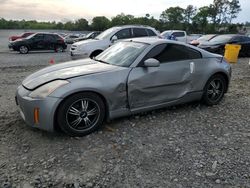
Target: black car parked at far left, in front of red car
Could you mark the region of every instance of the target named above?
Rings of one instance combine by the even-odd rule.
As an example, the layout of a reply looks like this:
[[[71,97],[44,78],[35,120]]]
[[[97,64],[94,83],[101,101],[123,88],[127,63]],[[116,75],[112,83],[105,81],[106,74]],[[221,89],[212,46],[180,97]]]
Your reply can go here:
[[[9,48],[27,54],[31,50],[54,50],[62,52],[67,48],[64,39],[58,34],[35,33],[24,39],[17,39],[9,44]]]

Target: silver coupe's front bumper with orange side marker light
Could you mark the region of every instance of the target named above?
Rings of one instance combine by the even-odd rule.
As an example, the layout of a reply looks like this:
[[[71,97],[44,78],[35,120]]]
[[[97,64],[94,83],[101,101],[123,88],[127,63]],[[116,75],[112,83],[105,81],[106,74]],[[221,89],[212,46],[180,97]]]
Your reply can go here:
[[[62,99],[55,97],[33,99],[28,96],[29,93],[30,91],[23,86],[19,86],[17,89],[16,103],[20,109],[21,117],[31,127],[54,131],[54,116]],[[38,113],[38,117],[36,117],[38,122],[36,122],[35,113]]]

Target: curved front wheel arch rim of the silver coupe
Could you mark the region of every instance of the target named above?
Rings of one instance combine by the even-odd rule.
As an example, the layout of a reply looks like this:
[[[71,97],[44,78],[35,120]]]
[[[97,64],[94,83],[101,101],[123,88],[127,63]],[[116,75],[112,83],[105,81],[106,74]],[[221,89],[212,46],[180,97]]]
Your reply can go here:
[[[56,110],[55,110],[55,113],[54,113],[54,116],[53,116],[53,128],[54,130],[60,130],[60,126],[58,125],[58,122],[57,122],[57,114],[58,114],[58,109],[59,107],[62,105],[62,103],[67,100],[69,97],[75,95],[75,94],[79,94],[79,93],[94,93],[96,95],[98,95],[103,103],[104,103],[104,106],[105,106],[105,114],[104,114],[104,119],[105,120],[108,120],[109,119],[109,105],[108,105],[108,101],[107,99],[99,92],[96,92],[96,91],[92,91],[92,90],[81,90],[81,91],[77,91],[77,92],[73,92],[73,93],[70,93],[69,95],[67,95],[66,97],[63,98],[63,100],[57,105],[56,107]]]

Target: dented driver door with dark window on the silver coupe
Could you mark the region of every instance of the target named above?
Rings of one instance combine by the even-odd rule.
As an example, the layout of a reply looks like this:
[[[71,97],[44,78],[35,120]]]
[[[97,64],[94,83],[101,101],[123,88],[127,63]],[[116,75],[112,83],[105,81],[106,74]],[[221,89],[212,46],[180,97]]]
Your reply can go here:
[[[183,45],[161,44],[154,47],[128,78],[128,100],[131,111],[177,100],[192,90],[198,51]],[[148,58],[160,61],[159,67],[143,67]]]

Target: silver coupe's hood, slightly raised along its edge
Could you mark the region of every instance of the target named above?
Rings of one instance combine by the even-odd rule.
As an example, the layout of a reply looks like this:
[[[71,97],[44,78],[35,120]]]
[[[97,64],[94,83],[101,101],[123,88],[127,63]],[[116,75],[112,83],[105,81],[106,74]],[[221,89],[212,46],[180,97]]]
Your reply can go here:
[[[28,90],[34,90],[53,80],[64,80],[77,76],[107,72],[116,68],[117,66],[99,63],[92,59],[69,61],[46,67],[31,74],[22,82],[22,85]]]

